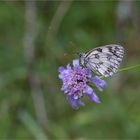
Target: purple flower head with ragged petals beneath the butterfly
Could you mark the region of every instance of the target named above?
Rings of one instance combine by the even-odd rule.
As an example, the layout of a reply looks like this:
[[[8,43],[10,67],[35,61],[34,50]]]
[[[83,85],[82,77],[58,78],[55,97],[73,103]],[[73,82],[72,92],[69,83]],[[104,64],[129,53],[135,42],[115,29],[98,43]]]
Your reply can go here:
[[[58,71],[60,72],[59,78],[63,81],[61,90],[66,94],[68,102],[74,109],[77,109],[78,105],[85,105],[81,100],[84,95],[90,101],[100,103],[99,97],[88,83],[93,83],[99,91],[102,91],[106,82],[98,76],[93,76],[89,69],[81,67],[78,60],[73,60],[73,67],[68,64],[66,68],[59,67]]]

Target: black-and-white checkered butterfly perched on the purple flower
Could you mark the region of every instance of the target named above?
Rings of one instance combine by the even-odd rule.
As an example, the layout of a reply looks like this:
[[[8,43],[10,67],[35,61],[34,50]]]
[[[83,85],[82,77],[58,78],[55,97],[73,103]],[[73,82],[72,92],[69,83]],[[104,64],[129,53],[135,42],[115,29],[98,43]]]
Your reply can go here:
[[[124,48],[110,44],[79,53],[80,64],[97,75],[110,77],[117,72],[124,55]]]

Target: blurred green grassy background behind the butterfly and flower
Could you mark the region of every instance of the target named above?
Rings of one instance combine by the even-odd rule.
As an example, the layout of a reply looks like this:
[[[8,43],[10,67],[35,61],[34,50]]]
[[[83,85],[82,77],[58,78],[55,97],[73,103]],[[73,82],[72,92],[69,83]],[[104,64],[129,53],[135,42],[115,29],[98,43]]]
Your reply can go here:
[[[0,1],[0,139],[140,139],[140,69],[105,79],[101,104],[73,110],[58,67],[121,44],[140,63],[139,1]]]

